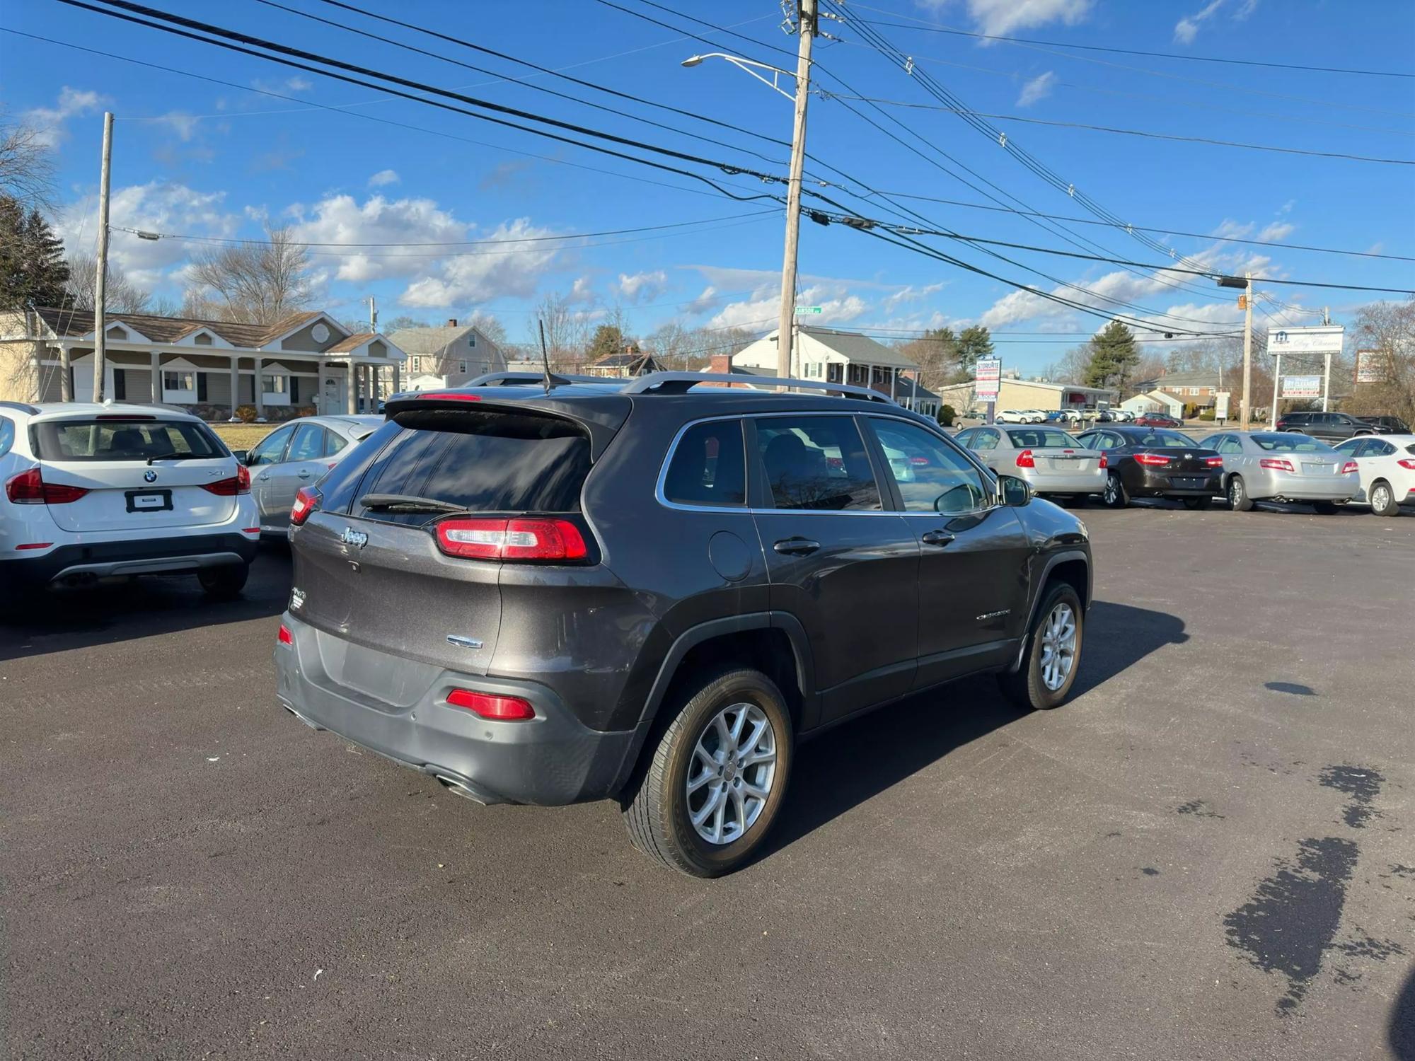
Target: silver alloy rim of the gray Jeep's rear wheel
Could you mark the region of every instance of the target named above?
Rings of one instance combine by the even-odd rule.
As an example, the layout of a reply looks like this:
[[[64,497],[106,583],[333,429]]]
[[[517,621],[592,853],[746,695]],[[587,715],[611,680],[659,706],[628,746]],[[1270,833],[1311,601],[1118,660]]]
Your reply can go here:
[[[754,703],[723,707],[703,729],[688,767],[688,821],[708,843],[746,833],[771,795],[777,734]]]

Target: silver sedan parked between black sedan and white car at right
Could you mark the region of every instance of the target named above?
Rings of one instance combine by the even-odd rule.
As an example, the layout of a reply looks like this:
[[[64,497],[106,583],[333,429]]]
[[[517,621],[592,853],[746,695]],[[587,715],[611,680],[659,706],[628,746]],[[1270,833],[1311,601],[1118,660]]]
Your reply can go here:
[[[1224,494],[1234,512],[1255,501],[1298,501],[1330,515],[1360,485],[1354,460],[1306,434],[1234,431],[1206,441],[1224,460]]]

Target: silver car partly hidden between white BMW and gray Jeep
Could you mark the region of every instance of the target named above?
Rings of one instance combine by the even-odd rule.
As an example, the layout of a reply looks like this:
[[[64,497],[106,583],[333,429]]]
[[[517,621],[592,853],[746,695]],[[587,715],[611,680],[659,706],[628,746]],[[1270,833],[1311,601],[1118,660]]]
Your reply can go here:
[[[317,482],[383,423],[382,416],[306,416],[236,456],[250,471],[260,533],[284,536],[300,487]]]

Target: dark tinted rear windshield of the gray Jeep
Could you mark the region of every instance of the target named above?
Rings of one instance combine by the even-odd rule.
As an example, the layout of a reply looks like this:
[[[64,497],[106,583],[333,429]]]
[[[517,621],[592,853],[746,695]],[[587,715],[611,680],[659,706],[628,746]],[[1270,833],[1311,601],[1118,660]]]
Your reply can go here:
[[[432,518],[365,508],[361,498],[369,495],[424,498],[468,512],[580,511],[590,439],[572,420],[492,409],[419,409],[393,419],[402,430],[358,484],[352,515],[416,525]]]

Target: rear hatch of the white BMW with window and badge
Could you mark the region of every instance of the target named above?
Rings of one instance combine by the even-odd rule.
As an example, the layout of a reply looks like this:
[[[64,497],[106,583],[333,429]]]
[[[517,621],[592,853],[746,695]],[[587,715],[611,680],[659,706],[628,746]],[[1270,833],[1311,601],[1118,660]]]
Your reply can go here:
[[[31,426],[54,522],[65,530],[163,530],[235,515],[236,461],[185,419],[103,413]]]

